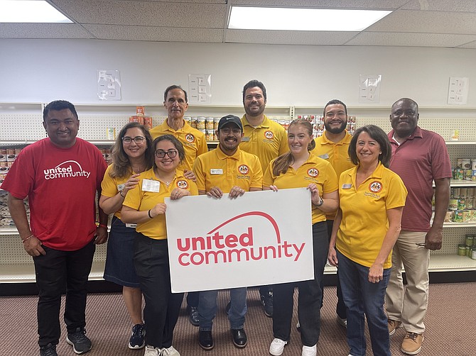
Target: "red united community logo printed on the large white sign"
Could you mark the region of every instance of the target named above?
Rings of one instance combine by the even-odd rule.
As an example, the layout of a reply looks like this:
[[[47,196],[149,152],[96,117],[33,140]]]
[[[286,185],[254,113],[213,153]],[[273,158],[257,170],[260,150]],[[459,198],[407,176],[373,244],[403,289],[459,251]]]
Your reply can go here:
[[[251,223],[245,221],[243,230],[237,230],[237,221],[264,218],[269,221],[271,228],[266,229],[266,236],[258,233],[256,236]],[[242,223],[242,221],[241,221]],[[255,245],[256,238],[256,245]],[[220,223],[202,236],[178,238],[178,263],[189,265],[222,265],[230,262],[250,260],[299,260],[306,243],[290,243],[281,238],[278,223],[272,216],[263,211],[249,211]]]

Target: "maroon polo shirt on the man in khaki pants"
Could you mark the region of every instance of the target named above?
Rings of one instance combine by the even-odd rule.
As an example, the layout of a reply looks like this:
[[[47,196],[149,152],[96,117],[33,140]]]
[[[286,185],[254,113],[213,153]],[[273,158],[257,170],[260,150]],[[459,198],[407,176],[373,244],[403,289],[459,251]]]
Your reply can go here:
[[[390,169],[399,174],[409,191],[401,216],[401,229],[428,231],[432,214],[433,179],[452,177],[445,140],[438,133],[418,126],[400,145],[393,136],[394,130],[391,130]]]

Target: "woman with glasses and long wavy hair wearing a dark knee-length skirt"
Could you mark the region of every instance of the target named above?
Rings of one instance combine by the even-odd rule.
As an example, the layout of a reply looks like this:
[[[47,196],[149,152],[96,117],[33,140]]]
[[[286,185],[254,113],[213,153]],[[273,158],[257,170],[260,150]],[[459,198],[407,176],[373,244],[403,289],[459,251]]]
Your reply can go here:
[[[101,187],[99,206],[114,213],[107,243],[104,279],[122,286],[122,297],[132,321],[130,349],[144,347],[142,293],[134,269],[133,225],[121,221],[121,208],[126,195],[135,189],[139,173],[152,167],[153,146],[148,130],[140,123],[128,123],[121,128],[112,148],[112,165],[107,167]]]

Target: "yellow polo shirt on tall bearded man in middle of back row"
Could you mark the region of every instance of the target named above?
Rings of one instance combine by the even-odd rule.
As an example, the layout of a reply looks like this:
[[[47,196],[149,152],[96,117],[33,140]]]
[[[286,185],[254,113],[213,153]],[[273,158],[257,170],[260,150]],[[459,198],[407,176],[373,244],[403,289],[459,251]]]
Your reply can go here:
[[[244,115],[242,124],[244,136],[239,148],[258,156],[263,172],[271,160],[288,152],[288,134],[276,121],[269,120],[265,115],[261,125],[255,128],[250,125],[247,116]]]

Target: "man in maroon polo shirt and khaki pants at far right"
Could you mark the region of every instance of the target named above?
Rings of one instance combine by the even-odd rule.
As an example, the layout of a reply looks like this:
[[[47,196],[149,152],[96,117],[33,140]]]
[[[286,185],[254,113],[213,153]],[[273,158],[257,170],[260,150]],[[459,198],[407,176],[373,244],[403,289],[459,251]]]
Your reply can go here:
[[[418,127],[418,104],[407,98],[391,106],[389,133],[390,169],[399,174],[409,195],[401,217],[401,233],[391,257],[391,274],[386,289],[389,333],[403,326],[406,336],[401,351],[421,351],[428,305],[430,250],[440,250],[443,220],[450,199],[451,164],[443,138]],[[435,182],[435,217],[431,223],[431,199]],[[402,267],[407,286],[404,289]]]

